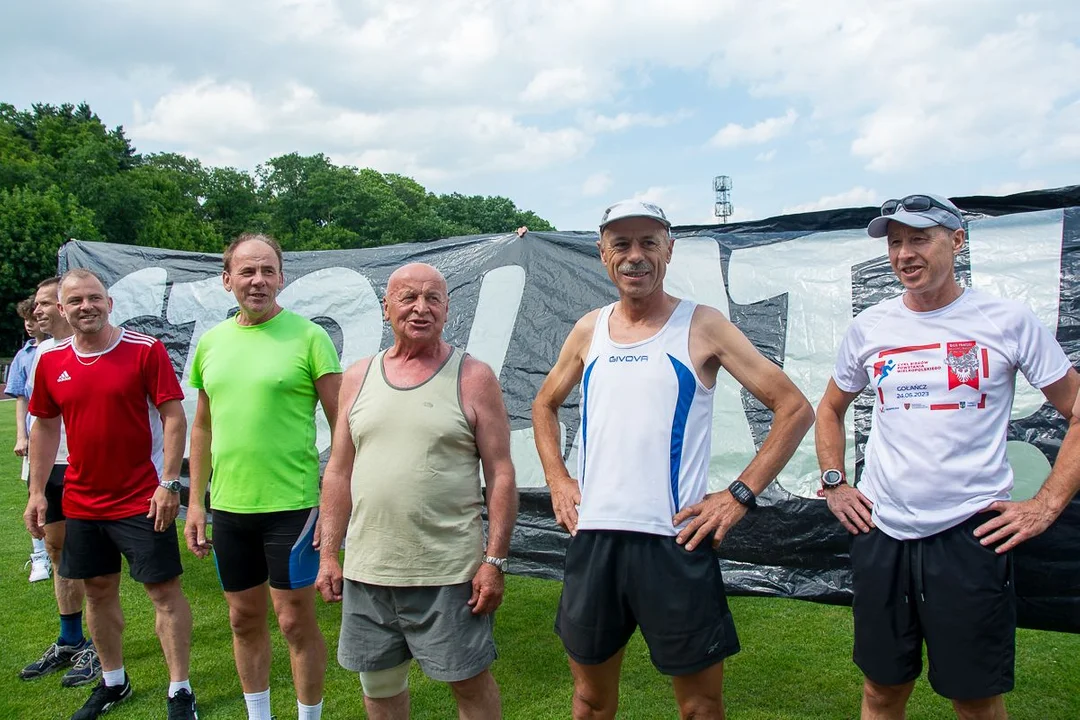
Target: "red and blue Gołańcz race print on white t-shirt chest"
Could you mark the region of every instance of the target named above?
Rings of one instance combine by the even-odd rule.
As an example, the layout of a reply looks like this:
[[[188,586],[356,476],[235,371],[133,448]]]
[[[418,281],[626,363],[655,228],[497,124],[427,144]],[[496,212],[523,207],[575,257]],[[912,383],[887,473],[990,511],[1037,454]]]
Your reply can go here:
[[[974,340],[888,348],[873,373],[879,412],[986,408],[980,378],[989,377],[989,358]]]

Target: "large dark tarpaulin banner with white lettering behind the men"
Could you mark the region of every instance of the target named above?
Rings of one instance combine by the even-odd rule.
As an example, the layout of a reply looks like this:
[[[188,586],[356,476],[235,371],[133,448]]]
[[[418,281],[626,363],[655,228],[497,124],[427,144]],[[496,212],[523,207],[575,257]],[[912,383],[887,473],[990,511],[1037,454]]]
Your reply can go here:
[[[1080,188],[1009,198],[956,199],[973,213],[958,262],[966,285],[1020,299],[1055,331],[1074,364],[1080,355]],[[816,405],[851,318],[893,296],[882,241],[864,228],[873,208],[785,216],[750,223],[675,229],[666,289],[725,312],[782,366]],[[445,337],[488,363],[510,412],[522,490],[512,571],[559,579],[568,535],[554,522],[532,443],[530,405],[573,323],[616,294],[598,261],[595,232],[530,232],[454,237],[355,250],[286,253],[281,303],[323,325],[343,365],[390,344],[380,300],[390,273],[422,261],[446,276]],[[188,419],[197,393],[187,385],[199,338],[235,311],[221,287],[218,256],[72,241],[60,269],[92,268],[110,286],[112,320],[161,338],[185,386]],[[559,420],[564,454],[576,466],[578,394]],[[862,471],[872,397],[855,403],[847,466]],[[725,488],[769,430],[770,412],[720,373],[715,394],[710,488]],[[325,462],[329,430],[318,413]],[[1066,424],[1040,392],[1017,376],[1009,427],[1014,498],[1031,497],[1057,454]],[[792,462],[725,539],[720,563],[729,590],[823,602],[851,599],[848,535],[816,498],[813,432]],[[1080,501],[1015,555],[1020,619],[1026,627],[1080,633]]]

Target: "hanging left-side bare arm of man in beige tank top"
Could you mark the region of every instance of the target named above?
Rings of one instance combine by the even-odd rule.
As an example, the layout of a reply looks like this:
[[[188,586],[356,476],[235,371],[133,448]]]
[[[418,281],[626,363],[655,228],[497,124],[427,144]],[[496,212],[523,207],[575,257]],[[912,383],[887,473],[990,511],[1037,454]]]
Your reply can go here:
[[[319,578],[315,581],[315,586],[327,602],[337,602],[341,599],[343,579],[339,554],[352,514],[352,463],[356,457],[356,448],[352,444],[352,433],[349,430],[349,409],[360,395],[364,376],[367,375],[370,364],[372,358],[365,357],[346,370],[345,376],[337,376],[339,391],[333,402],[334,436],[330,439],[330,459],[326,463],[326,472],[323,473],[323,491],[319,507],[322,530],[319,546]],[[325,403],[323,409],[329,418],[330,410]],[[339,412],[339,409],[343,411]]]

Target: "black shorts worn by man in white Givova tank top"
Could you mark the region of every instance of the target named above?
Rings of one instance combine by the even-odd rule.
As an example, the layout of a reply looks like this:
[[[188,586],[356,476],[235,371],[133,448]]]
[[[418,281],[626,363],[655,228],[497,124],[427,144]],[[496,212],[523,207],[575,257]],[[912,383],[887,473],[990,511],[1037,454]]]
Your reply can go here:
[[[687,552],[674,536],[578,531],[566,549],[555,616],[567,654],[598,665],[626,644],[635,627],[664,675],[692,675],[739,652],[712,546]]]

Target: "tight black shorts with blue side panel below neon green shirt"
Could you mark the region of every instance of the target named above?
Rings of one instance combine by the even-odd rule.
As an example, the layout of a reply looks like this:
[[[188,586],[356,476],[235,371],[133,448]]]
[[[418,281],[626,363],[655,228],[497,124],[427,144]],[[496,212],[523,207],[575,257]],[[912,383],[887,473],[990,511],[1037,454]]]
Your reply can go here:
[[[213,516],[214,560],[226,593],[261,585],[295,590],[315,583],[319,552],[312,546],[319,508]]]

